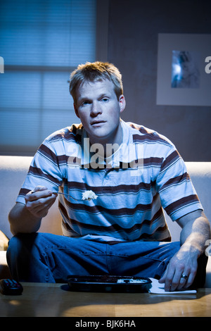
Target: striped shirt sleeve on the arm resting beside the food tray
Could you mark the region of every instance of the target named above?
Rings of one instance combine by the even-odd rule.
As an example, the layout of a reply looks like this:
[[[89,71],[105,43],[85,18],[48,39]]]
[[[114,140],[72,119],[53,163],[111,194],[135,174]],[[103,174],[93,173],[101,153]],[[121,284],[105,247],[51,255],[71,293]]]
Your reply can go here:
[[[162,207],[172,220],[198,209],[203,210],[184,160],[174,145],[162,162],[156,185]]]

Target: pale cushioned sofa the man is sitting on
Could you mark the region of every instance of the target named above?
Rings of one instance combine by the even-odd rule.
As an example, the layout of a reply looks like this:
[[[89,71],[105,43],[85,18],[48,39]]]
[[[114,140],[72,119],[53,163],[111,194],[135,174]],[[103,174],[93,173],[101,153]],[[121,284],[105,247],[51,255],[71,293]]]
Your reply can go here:
[[[25,175],[30,166],[32,157],[28,156],[0,156],[0,230],[10,239],[12,237],[8,223],[8,212],[15,204],[19,189],[23,184]],[[188,173],[191,175],[193,185],[205,209],[207,218],[211,221],[211,162],[186,162]],[[179,240],[180,227],[173,223],[168,216],[167,224],[170,227],[172,241]],[[62,235],[60,213],[58,203],[49,210],[48,215],[43,218],[39,232],[51,232]],[[0,279],[10,277],[6,263],[6,244],[4,235],[0,236]],[[208,250],[207,250],[208,251]],[[211,251],[211,250],[210,250]],[[211,287],[211,258],[208,258],[207,277],[205,287]]]

